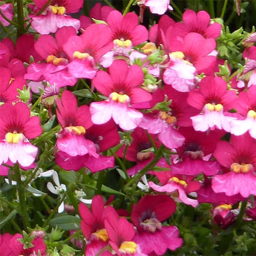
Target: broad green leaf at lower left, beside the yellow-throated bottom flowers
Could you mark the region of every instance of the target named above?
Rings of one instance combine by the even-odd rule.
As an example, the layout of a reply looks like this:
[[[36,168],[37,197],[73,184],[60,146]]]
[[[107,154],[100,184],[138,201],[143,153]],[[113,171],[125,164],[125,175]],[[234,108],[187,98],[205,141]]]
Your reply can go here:
[[[49,221],[49,225],[52,227],[58,226],[63,230],[72,230],[80,228],[81,219],[76,216],[65,215],[53,218]]]

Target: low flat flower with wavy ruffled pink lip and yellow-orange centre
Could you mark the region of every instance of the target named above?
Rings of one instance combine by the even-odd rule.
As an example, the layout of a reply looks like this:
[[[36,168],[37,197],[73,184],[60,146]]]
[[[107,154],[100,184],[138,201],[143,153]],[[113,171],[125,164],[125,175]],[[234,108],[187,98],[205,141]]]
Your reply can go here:
[[[170,171],[155,172],[155,175],[162,183],[162,186],[156,185],[150,181],[149,186],[151,189],[158,192],[173,193],[176,190],[179,193],[179,199],[184,203],[196,207],[198,201],[190,199],[187,194],[199,189],[199,181],[193,180],[193,176],[186,176],[185,179],[182,175],[173,175]]]

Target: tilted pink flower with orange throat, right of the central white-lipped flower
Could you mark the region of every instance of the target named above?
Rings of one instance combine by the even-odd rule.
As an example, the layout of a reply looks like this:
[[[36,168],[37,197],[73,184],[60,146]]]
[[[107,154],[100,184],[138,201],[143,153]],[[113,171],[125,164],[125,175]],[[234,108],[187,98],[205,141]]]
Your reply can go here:
[[[164,90],[158,89],[153,93],[153,101],[150,107],[155,106],[156,102],[164,100],[164,95],[168,96],[168,100],[172,100],[171,111],[154,111],[145,114],[139,124],[139,127],[148,130],[149,133],[158,134],[159,140],[168,148],[180,147],[185,137],[181,135],[176,126],[191,126],[190,116],[198,113],[191,108],[187,102],[187,93],[176,91],[170,86],[165,86]]]

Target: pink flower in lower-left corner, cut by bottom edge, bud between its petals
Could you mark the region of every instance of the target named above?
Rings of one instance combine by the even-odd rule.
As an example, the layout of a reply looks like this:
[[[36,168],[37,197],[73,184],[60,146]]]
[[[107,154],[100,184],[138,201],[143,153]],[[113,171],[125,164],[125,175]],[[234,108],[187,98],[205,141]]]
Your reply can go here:
[[[41,255],[44,255],[46,251],[46,245],[42,238],[35,238],[31,243],[34,245],[31,248],[23,249],[23,244],[17,239],[22,239],[21,234],[15,234],[9,240],[9,247],[12,250],[10,255],[31,255],[34,252],[37,254],[40,251]]]

